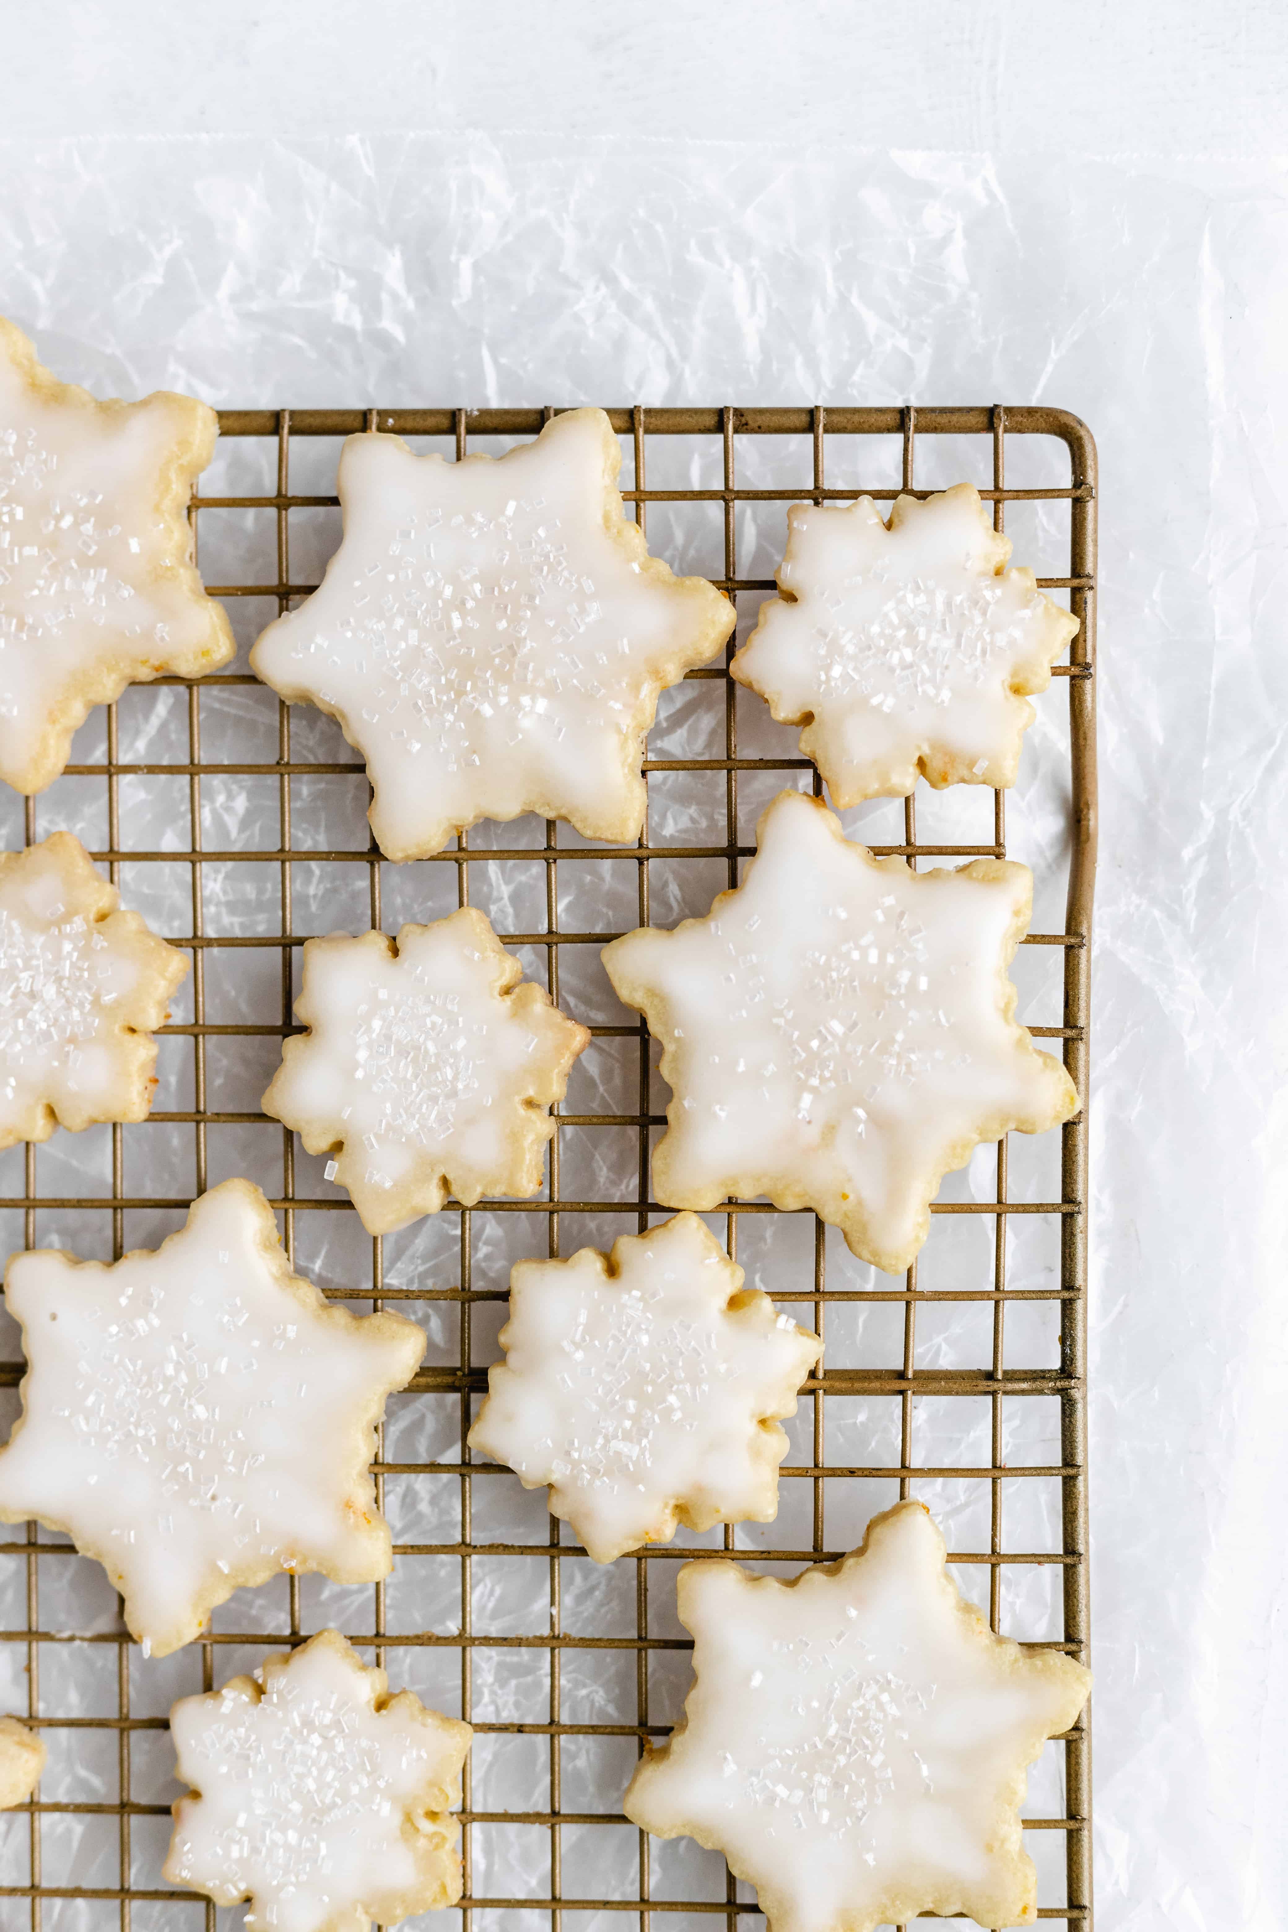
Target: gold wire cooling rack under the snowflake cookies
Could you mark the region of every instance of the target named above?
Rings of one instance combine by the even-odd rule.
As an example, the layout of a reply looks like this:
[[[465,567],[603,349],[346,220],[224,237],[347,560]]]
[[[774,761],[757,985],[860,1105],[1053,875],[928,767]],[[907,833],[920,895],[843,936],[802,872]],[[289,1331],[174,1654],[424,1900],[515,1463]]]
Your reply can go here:
[[[388,429],[411,439],[413,446],[463,456],[467,448],[496,452],[514,439],[531,437],[550,413],[222,412],[220,452],[232,481],[224,495],[197,497],[191,512],[207,580],[236,578],[210,582],[212,593],[230,601],[249,639],[268,616],[313,587],[305,580],[317,578],[317,564],[336,541],[336,497],[328,489],[301,489],[301,471],[305,485],[328,483],[334,439]],[[1054,721],[1052,742],[1060,746],[1056,763],[1068,817],[1054,840],[1052,864],[1066,869],[1068,898],[1062,929],[1033,931],[1025,941],[1027,947],[1058,949],[1047,952],[1045,962],[1062,962],[1060,976],[1049,974],[1049,989],[1062,1001],[1060,1024],[1033,1026],[1033,1032],[1062,1041],[1064,1061],[1085,1095],[1095,871],[1095,444],[1087,429],[1058,410],[1000,406],[635,408],[612,410],[610,417],[624,448],[624,497],[641,526],[649,516],[653,549],[718,582],[738,603],[743,632],[747,612],[772,589],[784,508],[792,500],[848,500],[859,493],[892,500],[900,491],[925,495],[931,485],[944,487],[967,475],[993,504],[998,529],[1008,512],[1016,535],[1018,522],[1033,520],[1023,526],[1033,537],[1020,535],[1016,556],[1035,560],[1033,543],[1043,541],[1056,568],[1039,582],[1056,597],[1068,597],[1081,618],[1070,661],[1056,667],[1064,684],[1039,699],[1043,726]],[[666,487],[658,485],[658,473]],[[1016,487],[1016,473],[1031,479],[1029,487]],[[218,487],[218,471],[214,475]],[[222,520],[222,533],[214,529],[216,520]],[[272,533],[268,543],[263,541],[266,529]],[[695,554],[699,537],[709,545],[705,554]],[[305,568],[299,568],[301,554]],[[224,558],[228,566],[220,568]],[[1060,688],[1068,694],[1068,738],[1058,717]],[[564,997],[579,1018],[595,1018],[587,1001],[595,1007],[599,995],[587,962],[597,962],[597,949],[614,931],[647,923],[651,914],[658,923],[672,923],[682,912],[703,912],[714,891],[736,885],[740,862],[753,850],[753,810],[780,784],[807,782],[813,767],[794,755],[794,738],[784,732],[776,734],[769,755],[751,755],[749,736],[763,734],[763,705],[740,694],[726,670],[689,672],[680,697],[689,711],[689,701],[707,707],[697,738],[691,728],[680,736],[686,752],[697,744],[709,755],[664,755],[668,719],[680,717],[680,709],[668,713],[664,701],[645,765],[651,819],[637,848],[587,846],[554,823],[535,825],[529,837],[535,821],[481,827],[473,842],[462,837],[456,850],[421,867],[382,862],[365,825],[348,846],[328,842],[330,808],[315,813],[301,798],[307,800],[309,784],[313,798],[322,798],[326,784],[348,784],[361,792],[365,810],[369,792],[361,763],[338,736],[319,736],[317,713],[292,713],[238,667],[199,684],[170,678],[160,688],[135,688],[106,709],[100,742],[93,742],[95,726],[85,728],[89,753],[83,752],[85,736],[77,738],[81,761],[68,767],[66,779],[42,798],[25,802],[25,817],[14,829],[27,842],[56,823],[73,821],[83,837],[85,825],[98,827],[85,842],[97,846],[95,858],[124,885],[127,904],[147,902],[149,867],[153,877],[164,867],[170,881],[178,873],[191,923],[187,931],[174,929],[172,916],[168,937],[191,949],[193,974],[191,1016],[162,1030],[162,1086],[153,1121],[102,1130],[110,1136],[102,1184],[89,1194],[64,1192],[60,1169],[46,1169],[29,1146],[0,1198],[12,1236],[8,1246],[66,1238],[68,1246],[79,1244],[81,1252],[104,1258],[120,1256],[127,1244],[151,1246],[158,1233],[178,1225],[195,1192],[226,1171],[243,1171],[274,1196],[288,1252],[324,1281],[328,1293],[359,1308],[411,1304],[407,1312],[431,1329],[431,1366],[417,1374],[404,1399],[398,1434],[386,1426],[378,1449],[377,1488],[384,1505],[396,1490],[411,1499],[390,1511],[398,1551],[394,1577],[338,1596],[315,1594],[311,1580],[301,1578],[282,1580],[280,1594],[239,1592],[216,1615],[210,1636],[182,1654],[189,1675],[168,1679],[164,1690],[149,1685],[149,1669],[154,1673],[158,1665],[143,1663],[110,1605],[93,1627],[58,1627],[68,1565],[83,1561],[64,1538],[33,1524],[25,1538],[12,1534],[0,1544],[0,1565],[8,1565],[14,1586],[4,1598],[14,1609],[4,1617],[10,1627],[0,1631],[0,1640],[15,1646],[17,1683],[25,1665],[29,1718],[50,1745],[41,1797],[6,1820],[0,1866],[6,1926],[25,1922],[27,1913],[31,1932],[79,1932],[81,1926],[95,1932],[98,1926],[122,1932],[191,1926],[195,1932],[199,1924],[228,1922],[234,1915],[216,1915],[191,1893],[168,1889],[160,1878],[172,1791],[166,1787],[166,1739],[156,1733],[166,1729],[172,1694],[222,1683],[274,1644],[295,1642],[328,1621],[340,1621],[375,1654],[394,1687],[411,1685],[448,1710],[458,1704],[475,1723],[463,1808],[463,1932],[471,1926],[485,1932],[502,1920],[521,1932],[539,1924],[560,1932],[568,1920],[583,1932],[601,1913],[612,1915],[601,1920],[604,1932],[622,1913],[639,1915],[641,1928],[653,1913],[680,1915],[695,1932],[711,1917],[726,1917],[734,1932],[738,1917],[751,1920],[755,1915],[747,1888],[736,1886],[714,1855],[649,1841],[616,1808],[630,1760],[645,1737],[666,1735],[687,1681],[687,1644],[672,1611],[674,1563],[682,1557],[734,1549],[778,1575],[792,1575],[801,1563],[852,1548],[873,1507],[884,1507],[896,1493],[915,1493],[937,1507],[948,1528],[954,1575],[962,1588],[973,1590],[994,1629],[1056,1642],[1087,1658],[1085,1109],[1062,1128],[1058,1184],[1039,1190],[1039,1198],[1027,1198],[1023,1186],[1016,1190],[1016,1151],[1008,1159],[1006,1140],[996,1146],[996,1161],[989,1159],[983,1186],[954,1188],[956,1177],[950,1177],[935,1208],[921,1283],[917,1265],[898,1285],[848,1264],[844,1250],[836,1250],[809,1215],[778,1215],[759,1202],[720,1211],[728,1248],[740,1254],[751,1279],[770,1289],[778,1302],[809,1304],[805,1320],[817,1318],[828,1345],[801,1395],[794,1449],[782,1472],[784,1505],[778,1524],[763,1532],[751,1526],[751,1534],[728,1528],[707,1538],[682,1534],[674,1546],[622,1559],[612,1569],[610,1598],[602,1590],[595,1594],[602,1578],[587,1586],[587,1559],[560,1542],[560,1524],[545,1511],[533,1515],[527,1507],[523,1515],[521,1497],[512,1515],[490,1503],[502,1493],[498,1484],[518,1490],[516,1478],[471,1463],[465,1434],[471,1405],[477,1406],[487,1383],[487,1364],[496,1354],[492,1337],[506,1298],[506,1262],[541,1248],[572,1252],[587,1236],[606,1244],[614,1233],[643,1229],[651,1217],[666,1213],[649,1198],[649,1142],[662,1124],[662,1111],[643,1026],[620,1024],[620,1012],[612,1018],[597,1009],[602,1024],[593,1026],[591,1053],[606,1055],[610,1072],[591,1092],[597,1105],[575,1111],[581,1090],[570,1094],[550,1150],[545,1198],[444,1211],[436,1217],[433,1238],[438,1246],[429,1258],[415,1244],[394,1254],[396,1238],[363,1236],[348,1200],[322,1180],[321,1163],[309,1163],[292,1136],[259,1113],[255,1094],[276,1063],[280,1037],[295,1030],[297,951],[311,931],[350,927],[367,914],[373,925],[396,929],[402,916],[438,916],[454,902],[465,904],[471,891],[475,902],[483,893],[502,939],[529,962],[527,970],[543,972],[554,999]],[[129,717],[118,715],[127,705],[133,707]],[[166,711],[164,730],[153,730],[158,707]],[[761,713],[755,721],[751,707]],[[1041,728],[1031,740],[1039,734]],[[247,748],[261,755],[247,757]],[[1025,748],[1025,759],[1033,757]],[[680,788],[674,792],[678,808],[660,813],[666,833],[657,835],[657,800],[666,786]],[[817,775],[813,786],[819,790]],[[251,794],[259,798],[261,833],[247,844],[238,833],[238,811],[212,811],[210,800],[218,808]],[[156,811],[151,819],[139,817],[139,800],[149,796],[162,798],[160,817]],[[877,842],[867,823],[861,831],[875,850],[900,852],[911,866],[1004,856],[1006,798],[981,794],[981,802],[991,806],[991,821],[981,827],[983,837],[977,831],[977,842],[944,842],[933,835],[927,840],[927,815],[937,800],[925,788],[919,788],[923,837],[911,798],[884,808],[894,813],[886,827],[892,840]],[[263,823],[272,825],[266,838]],[[346,823],[357,821],[350,815]],[[222,837],[212,837],[220,827],[226,827]],[[689,900],[672,889],[684,867],[691,875]],[[599,891],[610,869],[618,883],[626,873],[626,900],[606,887]],[[407,906],[398,873],[421,881],[421,900]],[[579,881],[574,893],[566,891],[570,873]],[[521,891],[510,883],[519,877]],[[253,910],[241,920],[230,918],[224,910],[230,887],[236,904],[238,881],[245,879]],[[425,900],[434,900],[433,912],[425,910]],[[1045,923],[1058,923],[1058,914]],[[1018,964],[1023,962],[1022,954]],[[1027,1009],[1025,999],[1022,1016],[1031,1018]],[[259,1086],[251,1080],[239,1107],[224,1063],[232,1049],[261,1055],[259,1070],[253,1068]],[[145,1142],[149,1134],[166,1138]],[[616,1134],[618,1150],[626,1136],[633,1150],[626,1165],[618,1159],[616,1169],[612,1163],[595,1167],[585,1150],[587,1136],[597,1134]],[[176,1144],[187,1148],[187,1171],[176,1167]],[[156,1150],[166,1157],[153,1159]],[[575,1186],[606,1171],[616,1173],[616,1180],[599,1194]],[[42,1177],[52,1184],[39,1186]],[[975,1165],[971,1177],[979,1180]],[[338,1217],[346,1223],[344,1240],[336,1235]],[[946,1273],[931,1271],[935,1235],[954,1223],[958,1235],[964,1231],[956,1217],[973,1217],[966,1227],[969,1238],[958,1240]],[[81,1231],[79,1242],[68,1238],[68,1227]],[[97,1246],[87,1246],[87,1227],[100,1231]],[[780,1250],[769,1240],[770,1233],[782,1233]],[[454,1275],[460,1287],[440,1285]],[[927,1285],[927,1277],[946,1285]],[[1035,1318],[1050,1318],[1049,1327]],[[964,1321],[966,1329],[958,1335],[952,1321]],[[871,1349],[863,1339],[869,1331],[877,1337]],[[927,1333],[929,1347],[923,1347]],[[1012,1360],[1008,1343],[1022,1354],[1020,1362]],[[865,1366],[873,1350],[879,1366]],[[15,1350],[10,1347],[10,1352]],[[1027,1366],[1025,1354],[1041,1358],[1043,1366]],[[12,1391],[19,1376],[19,1360],[0,1362],[0,1387]],[[967,1412],[969,1424],[958,1426],[958,1416]],[[1023,1426],[1037,1412],[1052,1416],[1047,1437]],[[417,1418],[425,1416],[431,1426],[421,1430]],[[1047,1455],[1035,1455],[1033,1445],[1041,1451],[1043,1439]],[[479,1478],[485,1482],[475,1493]],[[1054,1497],[1052,1534],[1045,1540],[1027,1530],[1041,1513],[1016,1507],[1016,1499],[1023,1505],[1039,1488]],[[975,1501],[956,1509],[954,1497],[966,1495]],[[1018,1540],[1010,1534],[1012,1520],[1020,1524]],[[954,1524],[964,1526],[966,1542],[954,1534]],[[772,1542],[774,1534],[782,1546]],[[504,1588],[496,1582],[498,1565],[508,1565]],[[529,1627],[519,1627],[521,1611],[496,1609],[512,1600],[516,1578],[518,1598],[529,1605]],[[1008,1594],[1014,1578],[1020,1578],[1016,1604],[1031,1598],[1033,1582],[1047,1586],[1045,1623],[1039,1617],[1035,1627],[1020,1617],[1016,1627]],[[626,1594],[622,1580],[630,1584]],[[402,1594],[394,1602],[398,1586]],[[54,1607],[46,1609],[50,1602]],[[79,1683],[73,1663],[93,1665],[79,1689],[73,1689]],[[1043,1814],[1025,1818],[1025,1843],[1039,1859],[1039,1917],[1089,1926],[1087,1718],[1049,1752],[1056,1758],[1054,1777],[1033,1787]],[[516,1783],[519,1754],[523,1776]],[[1054,1793],[1045,1806],[1043,1791]],[[1060,1845],[1062,1857],[1056,1857]],[[693,1853],[687,1862],[686,1851]]]

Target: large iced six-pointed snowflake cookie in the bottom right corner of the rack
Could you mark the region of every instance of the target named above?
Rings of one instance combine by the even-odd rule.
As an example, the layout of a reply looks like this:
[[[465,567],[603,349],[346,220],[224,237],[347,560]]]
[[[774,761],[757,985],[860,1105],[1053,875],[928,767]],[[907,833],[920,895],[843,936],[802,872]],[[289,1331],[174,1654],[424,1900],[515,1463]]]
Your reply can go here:
[[[722,1851],[770,1932],[1033,1920],[1025,1772],[1091,1675],[989,1631],[921,1503],[790,1584],[686,1563],[678,1604],[695,1683],[631,1779],[633,1824]]]

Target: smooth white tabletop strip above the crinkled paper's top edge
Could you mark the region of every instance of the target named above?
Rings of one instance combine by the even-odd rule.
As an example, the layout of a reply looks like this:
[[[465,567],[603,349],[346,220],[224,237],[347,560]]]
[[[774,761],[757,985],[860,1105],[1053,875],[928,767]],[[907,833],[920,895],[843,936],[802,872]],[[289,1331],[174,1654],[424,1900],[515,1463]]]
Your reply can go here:
[[[1274,155],[1276,0],[8,0],[4,128]]]

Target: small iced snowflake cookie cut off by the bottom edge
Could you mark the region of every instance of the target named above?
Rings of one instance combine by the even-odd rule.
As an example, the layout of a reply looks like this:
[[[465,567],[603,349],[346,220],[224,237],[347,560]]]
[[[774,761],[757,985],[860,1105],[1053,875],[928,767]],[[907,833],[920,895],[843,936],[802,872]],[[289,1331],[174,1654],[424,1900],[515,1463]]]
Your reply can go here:
[[[336,1631],[170,1712],[178,1776],[164,1876],[247,1932],[367,1932],[462,1895],[462,1766],[471,1727],[388,1696]]]

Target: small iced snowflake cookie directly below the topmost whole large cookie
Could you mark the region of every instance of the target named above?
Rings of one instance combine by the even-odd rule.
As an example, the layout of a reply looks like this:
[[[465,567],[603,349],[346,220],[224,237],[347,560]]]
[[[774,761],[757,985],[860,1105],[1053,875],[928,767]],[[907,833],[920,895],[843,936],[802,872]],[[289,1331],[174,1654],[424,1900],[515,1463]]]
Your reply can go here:
[[[434,925],[332,933],[303,949],[295,1016],[263,1099],[326,1175],[348,1188],[363,1227],[390,1235],[448,1194],[527,1198],[541,1186],[550,1107],[589,1041],[585,1026],[518,981],[523,968],[481,912]]]

